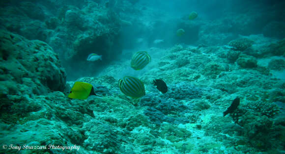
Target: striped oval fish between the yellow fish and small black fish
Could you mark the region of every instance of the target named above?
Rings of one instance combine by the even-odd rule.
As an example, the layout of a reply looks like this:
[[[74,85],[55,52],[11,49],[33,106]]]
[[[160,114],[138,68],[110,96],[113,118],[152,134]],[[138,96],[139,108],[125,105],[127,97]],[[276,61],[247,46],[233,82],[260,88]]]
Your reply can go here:
[[[119,79],[119,88],[122,93],[133,99],[138,99],[145,95],[144,84],[136,77],[125,76]]]

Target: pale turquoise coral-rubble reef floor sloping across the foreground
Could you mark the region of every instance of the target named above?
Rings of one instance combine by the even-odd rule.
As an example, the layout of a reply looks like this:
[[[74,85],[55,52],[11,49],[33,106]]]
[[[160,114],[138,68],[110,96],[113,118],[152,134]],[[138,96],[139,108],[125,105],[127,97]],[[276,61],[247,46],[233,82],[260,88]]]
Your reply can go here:
[[[25,129],[24,134],[36,131],[38,136],[28,138],[33,140],[28,144],[78,145],[79,153],[222,153],[224,145],[236,147],[226,148],[231,153],[246,152],[249,148],[255,152],[282,149],[284,122],[275,120],[280,113],[270,103],[284,101],[282,82],[260,74],[258,67],[240,69],[239,65],[228,63],[226,56],[223,59],[219,54],[212,54],[228,49],[174,48],[166,50],[165,57],[154,58],[157,65],[164,63],[160,66],[164,71],[151,69],[144,73],[146,95],[140,101],[120,92],[117,79],[112,77],[112,70],[118,66],[114,64],[106,76],[77,80],[94,85],[98,96],[87,100],[70,100],[59,91],[42,96],[1,98],[0,127],[5,131],[19,127]],[[202,52],[207,56],[201,56]],[[175,57],[182,55],[192,60],[177,70]],[[239,58],[243,56],[248,55],[241,54]],[[126,65],[129,62],[126,61]],[[167,93],[160,93],[152,85],[152,79],[157,77],[167,83]],[[68,82],[67,87],[73,83]],[[246,103],[242,100],[230,115],[236,122],[233,124],[231,118],[223,117],[222,113],[237,95],[245,97]],[[41,130],[34,129],[37,127]],[[51,129],[54,134],[50,134]],[[27,140],[13,139],[13,135],[7,133],[7,137],[0,140],[19,145]],[[201,142],[203,144],[199,144]]]

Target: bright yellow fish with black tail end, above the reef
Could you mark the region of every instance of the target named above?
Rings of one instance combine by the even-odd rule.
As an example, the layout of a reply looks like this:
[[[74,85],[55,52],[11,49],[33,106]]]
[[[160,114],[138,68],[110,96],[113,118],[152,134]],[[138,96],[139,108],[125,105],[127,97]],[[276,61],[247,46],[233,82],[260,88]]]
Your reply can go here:
[[[70,90],[68,98],[85,100],[90,95],[96,95],[91,84],[86,82],[75,82]]]

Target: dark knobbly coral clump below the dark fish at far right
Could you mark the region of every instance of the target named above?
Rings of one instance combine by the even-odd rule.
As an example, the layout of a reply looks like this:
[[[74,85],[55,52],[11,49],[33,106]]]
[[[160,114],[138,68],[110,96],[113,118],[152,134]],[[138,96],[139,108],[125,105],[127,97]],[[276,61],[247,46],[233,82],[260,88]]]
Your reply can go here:
[[[273,118],[279,109],[273,103],[248,102],[230,114],[235,123],[243,127],[249,142],[258,149],[270,149],[270,136],[274,134]]]

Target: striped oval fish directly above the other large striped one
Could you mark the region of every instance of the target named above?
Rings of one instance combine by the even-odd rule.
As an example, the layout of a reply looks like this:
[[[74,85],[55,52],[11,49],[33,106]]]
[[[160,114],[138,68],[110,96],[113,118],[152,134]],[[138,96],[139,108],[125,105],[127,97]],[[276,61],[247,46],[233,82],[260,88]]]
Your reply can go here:
[[[146,51],[136,52],[132,57],[131,67],[134,70],[141,70],[150,62],[150,60],[150,55]]]

